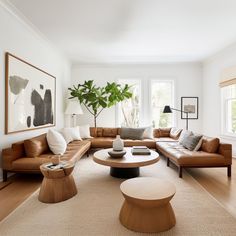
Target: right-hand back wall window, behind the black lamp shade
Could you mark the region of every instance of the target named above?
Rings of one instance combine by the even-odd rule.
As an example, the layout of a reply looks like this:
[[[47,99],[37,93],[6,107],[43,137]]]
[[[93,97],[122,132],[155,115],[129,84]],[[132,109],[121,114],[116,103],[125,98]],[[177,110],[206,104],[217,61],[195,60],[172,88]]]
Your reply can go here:
[[[154,128],[173,126],[173,114],[163,113],[165,105],[173,107],[173,81],[154,80],[151,86],[151,121]]]

